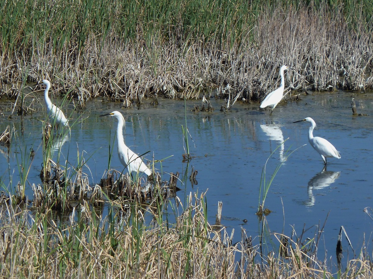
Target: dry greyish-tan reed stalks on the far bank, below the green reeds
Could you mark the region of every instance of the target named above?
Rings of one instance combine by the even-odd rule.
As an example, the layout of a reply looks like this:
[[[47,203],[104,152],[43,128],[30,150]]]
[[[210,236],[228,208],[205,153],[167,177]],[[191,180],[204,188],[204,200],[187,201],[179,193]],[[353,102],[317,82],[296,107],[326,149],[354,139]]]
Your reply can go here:
[[[248,35],[229,47],[181,41],[172,33],[166,43],[162,32],[156,32],[148,48],[141,33],[127,41],[110,33],[108,39],[92,36],[85,42],[79,67],[76,48],[65,44],[60,61],[42,48],[31,62],[18,59],[7,67],[10,60],[5,59],[0,68],[8,83],[21,80],[25,68],[30,80],[51,77],[81,107],[99,95],[129,103],[154,93],[197,99],[226,80],[232,90],[219,97],[230,99],[229,108],[236,100],[258,100],[272,90],[281,64],[296,69],[286,76],[286,85],[294,89],[372,89],[373,27],[361,23],[351,29],[341,18],[342,7],[323,17],[301,8],[264,10],[253,26],[245,26]],[[268,30],[275,32],[269,36]]]

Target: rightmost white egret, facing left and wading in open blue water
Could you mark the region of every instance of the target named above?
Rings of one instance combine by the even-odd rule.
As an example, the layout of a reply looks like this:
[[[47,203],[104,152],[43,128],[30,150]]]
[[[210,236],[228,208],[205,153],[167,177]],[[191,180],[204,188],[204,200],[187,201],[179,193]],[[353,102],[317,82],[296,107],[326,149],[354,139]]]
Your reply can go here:
[[[313,129],[316,127],[315,121],[307,117],[305,119],[295,121],[293,123],[301,122],[301,121],[307,121],[311,122],[310,129],[308,130],[308,141],[312,145],[312,147],[319,152],[321,155],[321,158],[323,158],[324,164],[326,165],[326,158],[327,157],[335,157],[340,159],[341,155],[339,155],[339,152],[335,149],[335,147],[325,138],[320,138],[320,137],[314,137],[313,136]]]

